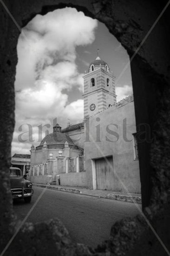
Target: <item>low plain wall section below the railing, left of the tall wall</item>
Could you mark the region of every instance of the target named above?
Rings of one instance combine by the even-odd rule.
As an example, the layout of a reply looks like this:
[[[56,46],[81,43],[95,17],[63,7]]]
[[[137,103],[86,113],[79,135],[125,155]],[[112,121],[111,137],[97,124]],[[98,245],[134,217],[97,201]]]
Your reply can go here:
[[[86,187],[86,172],[60,173],[60,185]]]

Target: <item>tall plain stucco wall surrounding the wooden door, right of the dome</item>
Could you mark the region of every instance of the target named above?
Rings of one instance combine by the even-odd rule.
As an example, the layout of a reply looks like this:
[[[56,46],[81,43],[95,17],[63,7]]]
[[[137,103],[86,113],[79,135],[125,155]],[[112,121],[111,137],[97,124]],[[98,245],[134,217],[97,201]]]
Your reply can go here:
[[[134,160],[132,140],[132,134],[136,132],[134,102],[131,101],[119,108],[114,106],[108,108],[87,119],[86,122],[89,122],[90,126],[90,142],[85,142],[88,187],[93,188],[92,159],[112,155],[113,168],[116,172],[114,191],[141,193],[139,163],[138,160]],[[116,134],[111,135],[107,128]]]

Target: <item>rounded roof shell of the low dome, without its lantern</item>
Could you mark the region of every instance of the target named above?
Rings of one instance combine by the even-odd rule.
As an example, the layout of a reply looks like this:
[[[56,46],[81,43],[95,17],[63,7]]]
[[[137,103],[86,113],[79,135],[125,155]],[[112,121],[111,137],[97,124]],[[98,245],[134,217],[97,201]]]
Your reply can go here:
[[[75,146],[74,142],[69,136],[60,132],[56,132],[56,133],[53,132],[46,135],[46,137],[41,141],[39,146],[43,146],[44,142],[46,142],[47,145],[56,145],[56,146],[60,145],[62,147],[64,146],[66,141],[68,142],[68,145]]]

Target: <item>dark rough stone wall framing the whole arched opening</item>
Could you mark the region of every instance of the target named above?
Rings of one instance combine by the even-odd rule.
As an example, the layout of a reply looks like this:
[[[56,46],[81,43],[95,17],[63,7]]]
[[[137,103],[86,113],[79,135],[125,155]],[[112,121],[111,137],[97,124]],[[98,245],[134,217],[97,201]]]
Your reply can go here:
[[[84,11],[85,15],[105,23],[109,31],[128,51],[130,57],[133,56],[167,4],[166,0],[5,0],[4,2],[20,27],[25,26],[37,13],[46,14],[48,11],[65,6],[76,7],[78,11]],[[17,64],[16,45],[20,34],[18,25],[14,24],[2,3],[0,2],[0,250],[6,245],[15,227],[8,169],[14,128],[13,84]],[[144,212],[162,239],[165,238],[165,233],[161,228],[170,226],[168,218],[170,209],[168,204],[170,187],[169,16],[170,7],[163,13],[131,62],[136,122],[149,124],[153,137],[152,143],[145,141],[139,145],[143,208],[147,206]],[[58,222],[53,225],[59,227]],[[135,231],[136,229],[138,232]],[[26,236],[23,236],[25,232],[23,230],[26,231]],[[126,230],[125,236],[124,230]],[[16,251],[15,255],[23,255],[26,249],[30,251],[29,255],[90,255],[85,246],[76,245],[72,249],[74,246],[68,242],[68,238],[63,241],[59,228],[54,232],[50,228],[50,223],[40,226],[32,225],[31,228],[26,224],[20,232],[20,243],[17,245],[13,243],[12,247]],[[36,236],[37,233],[40,234],[39,237]],[[160,247],[153,232],[148,228],[143,229],[143,224],[138,223],[137,218],[134,222],[127,220],[119,223],[117,228],[112,229],[111,237],[114,237],[113,243],[106,243],[107,246],[101,247],[101,253],[98,250],[95,255],[132,255],[129,254],[130,249],[134,250],[133,255],[164,255],[166,253],[163,247]],[[166,229],[166,237],[170,237],[168,229]],[[32,247],[34,240],[37,241],[37,245],[33,244]],[[139,242],[136,243],[136,241]],[[167,247],[170,244],[168,239],[163,242]],[[49,249],[49,243],[50,251],[40,252],[39,244],[44,244],[44,247]],[[65,243],[69,245],[65,247]],[[91,254],[94,253],[91,251]]]

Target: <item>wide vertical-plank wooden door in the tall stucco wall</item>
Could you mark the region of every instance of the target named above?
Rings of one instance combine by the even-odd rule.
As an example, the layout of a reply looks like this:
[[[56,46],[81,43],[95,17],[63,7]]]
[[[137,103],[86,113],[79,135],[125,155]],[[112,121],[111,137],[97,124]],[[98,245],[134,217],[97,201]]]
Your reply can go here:
[[[97,189],[113,190],[114,174],[113,174],[113,158],[112,156],[96,159],[96,182]]]

